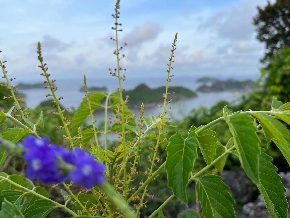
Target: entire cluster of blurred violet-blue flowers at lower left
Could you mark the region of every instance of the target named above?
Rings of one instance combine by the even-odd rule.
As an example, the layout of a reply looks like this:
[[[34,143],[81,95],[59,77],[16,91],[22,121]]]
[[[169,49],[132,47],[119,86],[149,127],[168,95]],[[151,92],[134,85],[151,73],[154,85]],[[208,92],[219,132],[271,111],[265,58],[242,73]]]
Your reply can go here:
[[[86,188],[105,181],[105,167],[85,151],[75,148],[75,152],[69,151],[56,144],[49,144],[48,138],[35,138],[30,136],[23,141],[27,149],[25,159],[27,161],[27,175],[30,179],[39,178],[44,183],[60,183],[70,179],[75,183],[81,183]],[[63,161],[75,166],[69,174],[61,173],[57,164],[57,156]]]

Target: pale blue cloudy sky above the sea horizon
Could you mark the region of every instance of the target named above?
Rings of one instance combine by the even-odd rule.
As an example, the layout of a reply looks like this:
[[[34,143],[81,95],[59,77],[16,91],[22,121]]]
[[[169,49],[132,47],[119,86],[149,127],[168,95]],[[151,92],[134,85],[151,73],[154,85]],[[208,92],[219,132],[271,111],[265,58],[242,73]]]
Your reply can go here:
[[[259,75],[264,44],[252,18],[266,0],[121,0],[128,43],[121,66],[126,76],[166,76],[171,43],[178,32],[174,74],[253,77]],[[111,27],[115,1],[0,0],[0,59],[18,81],[39,78],[37,42],[53,78],[108,77],[116,67]],[[42,79],[41,77],[39,79]]]

